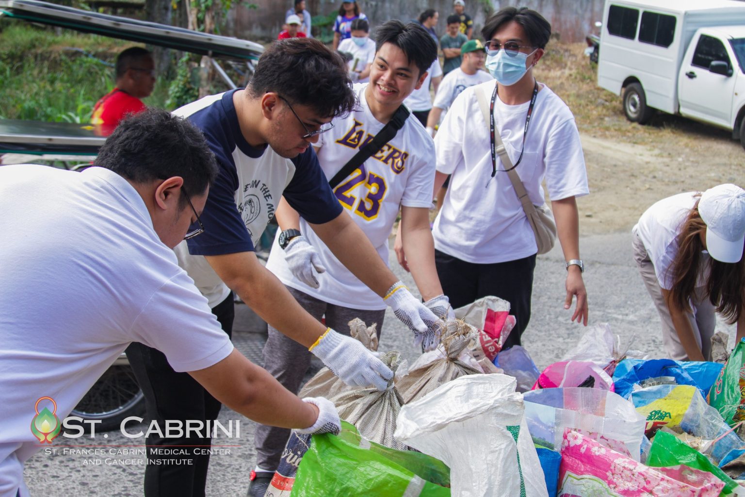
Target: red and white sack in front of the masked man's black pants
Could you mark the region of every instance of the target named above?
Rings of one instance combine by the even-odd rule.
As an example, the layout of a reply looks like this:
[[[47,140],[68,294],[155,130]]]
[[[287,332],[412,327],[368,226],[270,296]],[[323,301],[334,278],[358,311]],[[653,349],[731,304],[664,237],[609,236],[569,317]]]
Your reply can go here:
[[[499,297],[482,297],[468,306],[459,307],[455,309],[455,317],[478,329],[479,349],[484,351],[489,362],[494,361],[515,327],[510,303]]]

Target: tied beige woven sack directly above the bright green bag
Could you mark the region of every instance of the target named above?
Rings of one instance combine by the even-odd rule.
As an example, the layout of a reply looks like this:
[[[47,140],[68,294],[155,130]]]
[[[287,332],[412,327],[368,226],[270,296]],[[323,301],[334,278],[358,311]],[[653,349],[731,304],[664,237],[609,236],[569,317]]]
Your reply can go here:
[[[401,358],[399,352],[386,352],[381,361],[393,373],[399,369]],[[405,367],[405,366],[404,366]],[[339,411],[339,417],[352,423],[360,434],[375,443],[391,449],[408,450],[408,446],[393,437],[396,431],[396,417],[401,411],[402,399],[393,381],[384,391],[377,388],[361,388],[338,394],[330,398]]]

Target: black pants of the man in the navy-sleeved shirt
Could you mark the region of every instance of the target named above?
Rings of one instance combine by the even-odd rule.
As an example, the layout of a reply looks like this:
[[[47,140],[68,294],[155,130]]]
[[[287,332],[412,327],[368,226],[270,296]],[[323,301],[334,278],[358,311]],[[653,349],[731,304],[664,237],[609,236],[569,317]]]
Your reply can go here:
[[[223,331],[232,335],[232,322],[235,307],[231,294],[212,309]],[[145,394],[148,423],[157,420],[165,432],[165,420],[215,420],[220,413],[221,403],[207,393],[188,373],[173,370],[165,355],[159,350],[139,343],[127,347],[137,382]],[[204,433],[206,428],[203,428]],[[180,464],[148,464],[145,468],[145,497],[203,497],[207,481],[209,454],[194,455],[194,446],[209,449],[210,437],[161,438],[148,436],[149,459],[177,459]],[[162,455],[160,447],[185,446],[188,455]],[[191,459],[191,464],[184,463]]]

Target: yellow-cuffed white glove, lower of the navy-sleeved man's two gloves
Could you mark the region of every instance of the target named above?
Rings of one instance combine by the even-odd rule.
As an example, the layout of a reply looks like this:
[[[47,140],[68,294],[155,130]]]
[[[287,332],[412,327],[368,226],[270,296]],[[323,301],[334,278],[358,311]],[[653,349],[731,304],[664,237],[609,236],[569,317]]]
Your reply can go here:
[[[326,329],[326,333],[308,350],[344,383],[353,387],[373,385],[382,392],[393,379],[393,371],[373,352],[354,338],[341,335],[331,328]]]

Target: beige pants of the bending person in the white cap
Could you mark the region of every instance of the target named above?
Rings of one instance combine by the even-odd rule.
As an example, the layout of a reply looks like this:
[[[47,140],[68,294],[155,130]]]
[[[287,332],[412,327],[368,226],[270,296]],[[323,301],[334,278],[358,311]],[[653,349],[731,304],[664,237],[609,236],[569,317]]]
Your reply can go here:
[[[668,304],[665,302],[665,297],[662,297],[662,288],[657,281],[652,261],[650,261],[641,238],[635,232],[632,233],[631,245],[641,279],[652,297],[657,312],[659,312],[660,320],[662,320],[662,345],[665,346],[665,351],[671,358],[676,361],[688,361],[688,355],[680,344],[678,332],[675,331],[675,326],[673,326],[673,318],[670,316]],[[714,335],[717,315],[714,306],[711,305],[707,297],[706,287],[696,288],[694,296],[691,297],[693,312],[688,313],[688,320],[691,321],[696,343],[700,346],[704,358],[708,361],[711,358],[711,336]]]

